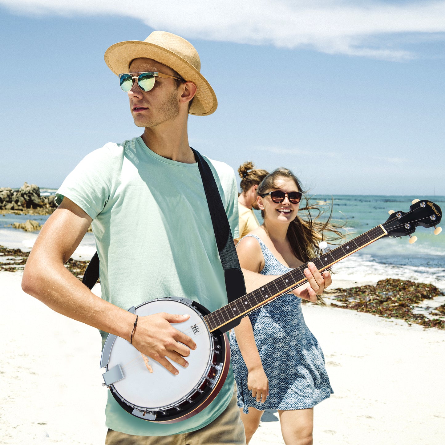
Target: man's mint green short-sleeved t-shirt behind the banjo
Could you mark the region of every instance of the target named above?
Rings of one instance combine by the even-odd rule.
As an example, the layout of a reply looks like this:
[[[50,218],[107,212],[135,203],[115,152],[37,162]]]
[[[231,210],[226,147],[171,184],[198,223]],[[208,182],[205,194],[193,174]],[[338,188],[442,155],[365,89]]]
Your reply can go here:
[[[238,237],[235,174],[208,158],[234,238]],[[127,310],[166,296],[198,301],[210,311],[227,304],[198,164],[163,158],[134,138],[88,154],[67,176],[56,199],[71,199],[93,218],[102,298]],[[101,332],[102,344],[107,334]],[[233,372],[214,401],[184,421],[165,425],[134,417],[109,392],[106,426],[137,436],[186,433],[208,425],[233,395]]]

